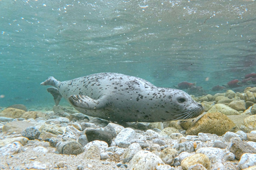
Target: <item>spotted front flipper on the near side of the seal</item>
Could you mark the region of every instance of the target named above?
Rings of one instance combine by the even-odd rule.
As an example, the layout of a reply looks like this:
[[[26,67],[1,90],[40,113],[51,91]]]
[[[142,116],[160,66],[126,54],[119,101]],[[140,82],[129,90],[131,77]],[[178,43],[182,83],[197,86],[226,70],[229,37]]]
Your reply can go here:
[[[69,102],[75,106],[86,110],[101,109],[106,106],[108,96],[103,95],[98,100],[94,100],[84,95],[72,95],[69,97]]]

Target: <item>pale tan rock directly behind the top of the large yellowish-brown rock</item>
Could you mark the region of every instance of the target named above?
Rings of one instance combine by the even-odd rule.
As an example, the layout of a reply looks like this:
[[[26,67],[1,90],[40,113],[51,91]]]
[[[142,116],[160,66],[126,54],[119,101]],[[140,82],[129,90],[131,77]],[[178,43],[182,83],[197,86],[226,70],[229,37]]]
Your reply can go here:
[[[224,115],[239,115],[239,112],[225,104],[215,104],[207,113],[222,113]]]

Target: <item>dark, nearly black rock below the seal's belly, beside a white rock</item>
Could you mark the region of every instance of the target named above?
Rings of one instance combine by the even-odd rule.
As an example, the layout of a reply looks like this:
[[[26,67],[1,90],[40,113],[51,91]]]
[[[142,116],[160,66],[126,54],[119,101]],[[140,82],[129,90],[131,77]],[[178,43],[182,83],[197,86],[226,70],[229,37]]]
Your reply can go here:
[[[85,134],[89,142],[94,140],[101,140],[108,143],[109,146],[113,138],[113,136],[110,133],[97,130],[97,129],[88,129],[85,131]]]

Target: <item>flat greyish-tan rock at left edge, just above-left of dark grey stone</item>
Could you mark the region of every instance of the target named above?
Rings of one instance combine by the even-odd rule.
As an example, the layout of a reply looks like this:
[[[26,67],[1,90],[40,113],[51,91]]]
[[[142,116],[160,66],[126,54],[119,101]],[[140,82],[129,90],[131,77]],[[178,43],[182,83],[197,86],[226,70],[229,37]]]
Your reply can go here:
[[[27,129],[27,127],[29,126],[33,126],[32,123],[27,122],[27,121],[15,121],[15,122],[10,122],[10,123],[6,123],[3,126],[3,132],[17,132],[17,133],[21,133],[22,131],[24,131],[25,129]]]

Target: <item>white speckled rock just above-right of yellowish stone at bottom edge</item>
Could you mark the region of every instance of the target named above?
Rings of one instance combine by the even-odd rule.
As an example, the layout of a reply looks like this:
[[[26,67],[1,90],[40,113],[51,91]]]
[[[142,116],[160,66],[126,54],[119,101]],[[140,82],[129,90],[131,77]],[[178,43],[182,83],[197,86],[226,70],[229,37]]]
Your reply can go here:
[[[211,160],[211,163],[214,164],[216,162],[221,162],[221,159],[224,157],[224,152],[222,149],[213,148],[213,147],[203,147],[196,151],[197,153],[202,153],[207,155],[208,158]]]

